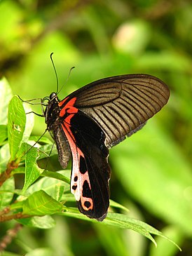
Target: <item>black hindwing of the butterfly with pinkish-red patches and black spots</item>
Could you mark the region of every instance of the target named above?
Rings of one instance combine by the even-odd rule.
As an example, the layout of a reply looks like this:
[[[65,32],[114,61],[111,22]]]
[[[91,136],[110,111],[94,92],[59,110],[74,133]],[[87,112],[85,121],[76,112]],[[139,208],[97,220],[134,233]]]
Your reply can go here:
[[[102,221],[109,208],[109,149],[104,144],[102,128],[73,104],[73,100],[60,103],[60,126],[69,142],[73,160],[71,192],[81,213]]]

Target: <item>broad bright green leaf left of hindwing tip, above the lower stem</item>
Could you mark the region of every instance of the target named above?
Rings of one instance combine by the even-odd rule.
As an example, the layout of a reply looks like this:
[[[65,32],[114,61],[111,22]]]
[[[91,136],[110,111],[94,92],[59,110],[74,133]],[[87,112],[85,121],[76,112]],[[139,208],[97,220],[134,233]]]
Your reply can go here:
[[[40,190],[34,192],[23,202],[23,214],[27,215],[51,215],[62,210],[62,204]]]

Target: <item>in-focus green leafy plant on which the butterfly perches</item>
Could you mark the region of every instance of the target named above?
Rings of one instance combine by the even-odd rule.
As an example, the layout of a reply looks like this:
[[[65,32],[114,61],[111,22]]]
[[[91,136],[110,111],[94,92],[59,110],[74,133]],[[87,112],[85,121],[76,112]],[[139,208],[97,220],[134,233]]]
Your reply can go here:
[[[8,83],[4,79],[1,82],[2,90],[8,90]],[[9,97],[5,95],[5,97]],[[6,100],[4,102],[7,102]],[[4,110],[6,105],[4,106]],[[30,122],[29,122],[30,123]],[[30,134],[28,134],[32,128],[29,128],[29,123],[26,125],[25,109],[22,107],[22,101],[18,96],[14,96],[8,105],[8,125],[7,136],[2,138],[4,147],[7,146],[6,140],[8,139],[8,147],[10,158],[5,168],[1,170],[0,185],[1,185],[1,214],[0,221],[5,222],[7,220],[19,220],[21,224],[28,225],[29,227],[39,227],[39,222],[34,222],[34,217],[53,214],[67,215],[69,217],[78,217],[82,220],[87,220],[87,217],[78,213],[76,208],[65,206],[69,194],[69,178],[62,175],[62,173],[54,173],[53,171],[43,171],[39,168],[36,161],[39,159],[42,149],[40,147],[31,147],[30,143],[27,144]],[[31,122],[33,125],[33,122]],[[4,126],[3,126],[4,130]],[[49,144],[51,146],[51,144]],[[34,145],[36,146],[36,145]],[[29,150],[26,154],[26,149]],[[25,150],[24,150],[25,149]],[[51,149],[50,149],[51,150]],[[7,152],[8,155],[8,152]],[[0,151],[1,156],[1,151]],[[0,157],[3,160],[3,157]],[[15,191],[15,185],[13,182],[13,175],[18,175],[24,172],[23,161],[25,159],[25,182],[22,191],[17,189]],[[41,180],[36,181],[39,176],[43,174]],[[50,179],[53,177],[54,182]],[[35,183],[34,183],[35,182]],[[67,182],[67,184],[66,184]],[[13,199],[13,195],[18,195]],[[64,204],[62,202],[65,202]],[[111,202],[111,206],[117,208],[123,208],[115,202]],[[107,220],[104,220],[104,224],[109,224],[115,227],[122,227],[132,229],[140,234],[151,239],[156,244],[151,234],[163,236],[159,231],[153,229],[144,222],[134,220],[127,215],[109,213]],[[27,222],[25,220],[27,218]],[[96,222],[95,220],[90,220]],[[41,228],[46,229],[51,227],[53,223],[52,218],[47,218],[44,226],[41,222]],[[36,225],[37,224],[37,225]]]

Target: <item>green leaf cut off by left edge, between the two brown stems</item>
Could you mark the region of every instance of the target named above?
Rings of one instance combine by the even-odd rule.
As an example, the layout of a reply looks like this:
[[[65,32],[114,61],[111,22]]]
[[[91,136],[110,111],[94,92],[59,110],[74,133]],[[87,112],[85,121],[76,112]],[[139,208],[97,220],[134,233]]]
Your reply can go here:
[[[13,177],[10,177],[2,186],[0,187],[0,210],[4,209],[6,206],[9,206],[13,199],[13,193],[8,190],[15,189],[15,180]]]

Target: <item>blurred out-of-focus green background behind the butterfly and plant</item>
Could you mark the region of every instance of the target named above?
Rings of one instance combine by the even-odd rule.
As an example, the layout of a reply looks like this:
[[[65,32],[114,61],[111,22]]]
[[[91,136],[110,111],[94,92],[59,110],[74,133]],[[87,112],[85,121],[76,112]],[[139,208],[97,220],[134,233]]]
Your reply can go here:
[[[167,83],[167,106],[110,151],[111,199],[182,248],[160,237],[155,248],[134,231],[57,216],[54,229],[23,227],[6,255],[41,255],[43,248],[59,256],[192,255],[191,13],[190,0],[0,1],[0,75],[24,100],[56,90],[52,52],[64,84],[60,99],[118,74],[152,74]],[[45,128],[37,116],[34,135]],[[0,240],[14,223],[1,224]]]

